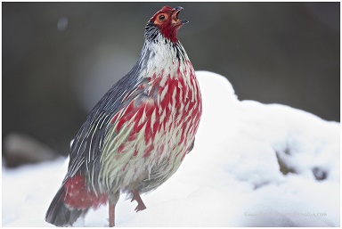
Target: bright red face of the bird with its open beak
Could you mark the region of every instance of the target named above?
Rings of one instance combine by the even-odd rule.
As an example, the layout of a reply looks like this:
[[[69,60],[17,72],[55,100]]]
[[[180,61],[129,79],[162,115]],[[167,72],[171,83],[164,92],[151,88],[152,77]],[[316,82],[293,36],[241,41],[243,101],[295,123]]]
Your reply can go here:
[[[182,7],[171,8],[164,6],[159,12],[153,15],[150,22],[152,22],[157,28],[160,29],[160,33],[170,39],[172,42],[176,42],[177,30],[183,26],[186,20],[179,20],[178,13],[183,10]]]

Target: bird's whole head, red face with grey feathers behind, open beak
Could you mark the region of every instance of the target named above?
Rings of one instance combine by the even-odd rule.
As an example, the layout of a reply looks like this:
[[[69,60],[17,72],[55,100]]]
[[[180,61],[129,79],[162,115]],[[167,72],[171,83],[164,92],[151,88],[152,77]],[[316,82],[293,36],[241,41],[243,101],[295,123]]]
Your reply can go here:
[[[187,20],[179,20],[178,14],[183,7],[177,6],[171,8],[164,6],[159,12],[156,12],[146,26],[146,37],[155,38],[156,30],[172,42],[177,42],[177,31],[183,24],[188,23]]]

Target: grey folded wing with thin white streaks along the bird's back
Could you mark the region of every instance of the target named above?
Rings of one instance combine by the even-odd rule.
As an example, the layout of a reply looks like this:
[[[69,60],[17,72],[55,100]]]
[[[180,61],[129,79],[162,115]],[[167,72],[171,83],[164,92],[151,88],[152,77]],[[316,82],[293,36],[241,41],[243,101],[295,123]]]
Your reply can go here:
[[[132,102],[137,94],[142,94],[139,85],[144,82],[137,82],[134,75],[131,71],[121,78],[90,112],[71,145],[67,176],[75,176],[80,168],[99,168],[92,165],[98,162],[102,154],[103,141],[111,119]]]

